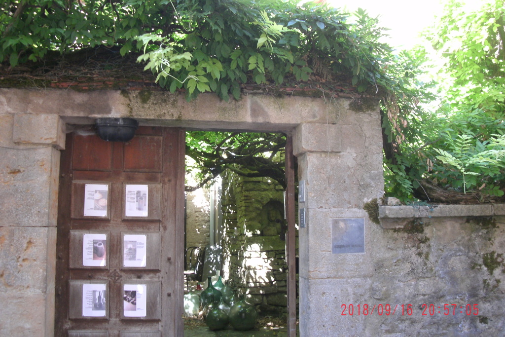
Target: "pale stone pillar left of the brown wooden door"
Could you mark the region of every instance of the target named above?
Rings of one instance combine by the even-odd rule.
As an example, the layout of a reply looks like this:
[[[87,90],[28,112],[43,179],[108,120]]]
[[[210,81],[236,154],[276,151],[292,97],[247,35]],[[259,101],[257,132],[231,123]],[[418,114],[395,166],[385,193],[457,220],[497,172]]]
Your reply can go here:
[[[58,115],[0,114],[0,335],[53,336]]]

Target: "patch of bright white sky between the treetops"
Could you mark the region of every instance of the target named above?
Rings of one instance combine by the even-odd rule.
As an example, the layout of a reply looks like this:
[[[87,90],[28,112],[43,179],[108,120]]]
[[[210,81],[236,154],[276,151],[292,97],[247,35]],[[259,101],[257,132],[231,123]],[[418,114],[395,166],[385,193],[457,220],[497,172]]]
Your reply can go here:
[[[379,17],[381,26],[390,28],[387,40],[397,49],[409,49],[417,42],[418,33],[433,23],[445,0],[328,0],[336,8],[354,12],[365,9],[370,16]]]

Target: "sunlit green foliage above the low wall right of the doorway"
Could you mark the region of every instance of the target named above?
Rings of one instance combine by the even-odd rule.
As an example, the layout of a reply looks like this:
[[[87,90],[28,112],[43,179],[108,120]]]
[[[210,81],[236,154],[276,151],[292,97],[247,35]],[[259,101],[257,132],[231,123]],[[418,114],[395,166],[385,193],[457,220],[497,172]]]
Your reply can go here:
[[[502,0],[451,0],[424,33],[428,46],[405,54],[407,83],[384,108],[386,195],[450,203],[451,193],[469,202],[505,194],[504,14]],[[435,81],[420,82],[428,65]]]

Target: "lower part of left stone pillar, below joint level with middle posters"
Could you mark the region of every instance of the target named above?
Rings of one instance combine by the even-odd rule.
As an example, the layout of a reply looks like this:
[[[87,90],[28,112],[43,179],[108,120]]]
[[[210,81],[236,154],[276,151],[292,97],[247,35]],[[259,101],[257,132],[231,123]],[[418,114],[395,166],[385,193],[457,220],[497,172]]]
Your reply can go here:
[[[52,336],[56,227],[0,227],[2,336]]]

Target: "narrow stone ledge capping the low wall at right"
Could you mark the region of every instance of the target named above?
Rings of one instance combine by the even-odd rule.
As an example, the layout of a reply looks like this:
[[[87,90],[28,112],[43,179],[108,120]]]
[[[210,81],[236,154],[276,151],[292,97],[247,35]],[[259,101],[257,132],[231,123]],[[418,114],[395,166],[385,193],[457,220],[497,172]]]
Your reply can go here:
[[[403,228],[416,218],[496,215],[505,215],[505,204],[379,206],[379,220],[384,229]]]

